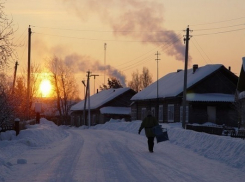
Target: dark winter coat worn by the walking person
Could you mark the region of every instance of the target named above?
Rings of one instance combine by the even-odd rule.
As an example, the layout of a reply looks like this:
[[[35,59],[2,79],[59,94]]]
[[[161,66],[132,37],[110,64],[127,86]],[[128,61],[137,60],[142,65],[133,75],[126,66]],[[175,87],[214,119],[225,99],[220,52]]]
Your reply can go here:
[[[153,134],[152,128],[157,125],[159,125],[157,119],[153,117],[152,115],[148,115],[142,121],[140,128],[139,128],[139,133],[141,132],[143,128],[145,128],[146,137],[154,137],[155,135]]]

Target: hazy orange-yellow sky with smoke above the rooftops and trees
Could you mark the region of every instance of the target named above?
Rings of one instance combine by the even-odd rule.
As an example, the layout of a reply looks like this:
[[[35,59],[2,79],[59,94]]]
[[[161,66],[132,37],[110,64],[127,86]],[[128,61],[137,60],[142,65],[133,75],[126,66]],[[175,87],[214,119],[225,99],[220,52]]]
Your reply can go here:
[[[105,63],[108,74],[126,84],[144,66],[155,81],[157,51],[159,78],[183,69],[188,25],[193,30],[189,67],[223,64],[239,75],[245,56],[244,0],[7,0],[5,12],[17,29],[15,41],[23,45],[17,49],[19,70],[27,69],[31,25],[31,61],[56,55],[75,65],[81,91],[88,70],[100,75],[96,88],[104,83]],[[94,80],[91,84],[93,94]]]

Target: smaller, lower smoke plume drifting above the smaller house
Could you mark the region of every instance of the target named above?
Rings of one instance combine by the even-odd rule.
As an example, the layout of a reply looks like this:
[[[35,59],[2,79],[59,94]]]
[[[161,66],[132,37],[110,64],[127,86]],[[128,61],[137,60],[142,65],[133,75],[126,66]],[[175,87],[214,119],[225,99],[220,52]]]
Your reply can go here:
[[[126,87],[126,77],[119,70],[110,65],[102,65],[99,61],[90,58],[89,56],[82,56],[78,54],[71,54],[65,57],[64,62],[67,66],[73,67],[75,71],[106,73],[106,75],[117,78],[123,87]]]

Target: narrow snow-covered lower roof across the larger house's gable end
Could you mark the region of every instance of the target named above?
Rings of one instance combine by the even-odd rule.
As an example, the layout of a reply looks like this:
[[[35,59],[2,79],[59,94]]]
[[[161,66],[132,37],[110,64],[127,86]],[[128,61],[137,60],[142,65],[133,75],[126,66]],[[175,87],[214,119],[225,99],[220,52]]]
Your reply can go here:
[[[186,94],[187,101],[199,101],[199,102],[234,102],[235,96],[232,94],[220,94],[220,93],[205,93]]]

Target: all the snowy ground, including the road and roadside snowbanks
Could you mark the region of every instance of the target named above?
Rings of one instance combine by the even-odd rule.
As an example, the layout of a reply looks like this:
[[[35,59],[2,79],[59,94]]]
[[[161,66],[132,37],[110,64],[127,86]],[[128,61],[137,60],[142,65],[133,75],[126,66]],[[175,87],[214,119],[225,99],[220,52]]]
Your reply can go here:
[[[15,137],[0,136],[0,181],[245,181],[245,140],[163,124],[169,141],[147,150],[141,121],[85,129],[41,119]]]

